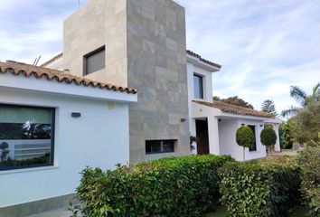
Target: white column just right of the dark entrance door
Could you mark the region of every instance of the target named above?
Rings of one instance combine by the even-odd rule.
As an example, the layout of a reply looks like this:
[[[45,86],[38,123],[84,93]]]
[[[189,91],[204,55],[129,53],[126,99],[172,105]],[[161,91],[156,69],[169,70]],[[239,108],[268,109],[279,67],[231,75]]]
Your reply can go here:
[[[208,117],[209,152],[220,155],[218,118]]]

